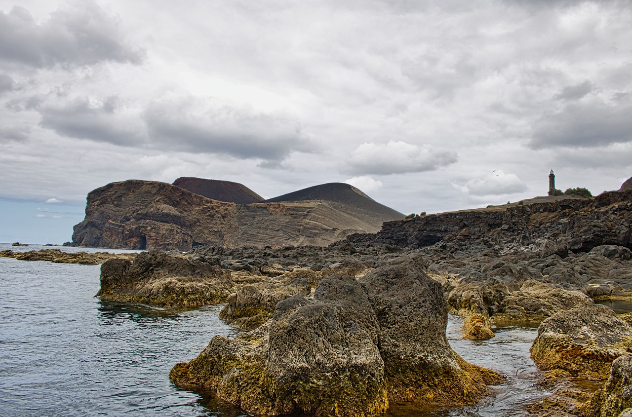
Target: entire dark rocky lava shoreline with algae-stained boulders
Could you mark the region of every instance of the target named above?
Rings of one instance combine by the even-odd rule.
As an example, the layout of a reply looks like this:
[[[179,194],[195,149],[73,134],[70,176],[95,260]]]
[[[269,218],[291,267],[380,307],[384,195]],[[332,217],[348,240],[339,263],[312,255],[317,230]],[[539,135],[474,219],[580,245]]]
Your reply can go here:
[[[628,190],[386,222],[327,247],[151,251],[105,260],[99,296],[226,303],[221,318],[251,330],[215,337],[171,379],[253,413],[373,416],[399,402],[478,401],[502,377],[451,350],[452,311],[468,339],[540,325],[531,354],[554,394],[531,415],[623,416],[632,326],[595,301],[632,300],[631,224]]]

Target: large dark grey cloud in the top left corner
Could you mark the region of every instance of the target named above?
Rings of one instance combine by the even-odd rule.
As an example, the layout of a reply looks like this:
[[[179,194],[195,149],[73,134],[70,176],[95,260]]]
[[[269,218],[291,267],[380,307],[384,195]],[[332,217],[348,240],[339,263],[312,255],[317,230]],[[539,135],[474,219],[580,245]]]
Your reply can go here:
[[[0,39],[0,62],[34,68],[101,61],[138,64],[145,56],[125,43],[119,21],[92,1],[58,9],[41,24],[20,6],[0,11]]]

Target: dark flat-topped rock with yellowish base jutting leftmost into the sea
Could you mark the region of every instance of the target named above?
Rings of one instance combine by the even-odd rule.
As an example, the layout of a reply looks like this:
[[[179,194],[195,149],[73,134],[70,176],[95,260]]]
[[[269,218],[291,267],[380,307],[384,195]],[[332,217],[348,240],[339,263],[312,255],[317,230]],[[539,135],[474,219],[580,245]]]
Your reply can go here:
[[[186,307],[226,301],[233,286],[228,271],[162,251],[142,252],[133,262],[107,260],[101,265],[99,296],[161,307]]]

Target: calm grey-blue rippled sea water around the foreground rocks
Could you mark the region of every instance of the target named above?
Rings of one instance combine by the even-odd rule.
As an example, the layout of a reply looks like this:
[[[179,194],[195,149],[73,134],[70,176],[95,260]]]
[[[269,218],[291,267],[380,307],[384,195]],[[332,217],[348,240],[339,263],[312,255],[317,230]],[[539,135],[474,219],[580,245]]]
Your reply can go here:
[[[40,248],[49,247],[0,244]],[[0,416],[248,415],[169,382],[171,367],[195,358],[211,337],[236,335],[217,318],[219,306],[166,311],[104,303],[94,298],[98,290],[99,265],[0,258]],[[394,407],[389,416],[524,416],[524,404],[546,394],[534,385],[539,373],[529,359],[535,329],[499,329],[490,341],[470,342],[459,339],[459,325],[451,317],[454,349],[509,382],[475,408]]]

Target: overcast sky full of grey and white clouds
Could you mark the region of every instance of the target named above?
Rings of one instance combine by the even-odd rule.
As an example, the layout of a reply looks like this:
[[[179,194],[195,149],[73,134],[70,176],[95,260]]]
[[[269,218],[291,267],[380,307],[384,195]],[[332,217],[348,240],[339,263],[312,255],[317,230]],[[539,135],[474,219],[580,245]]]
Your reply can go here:
[[[0,241],[180,176],[400,212],[632,176],[632,1],[0,0]]]

